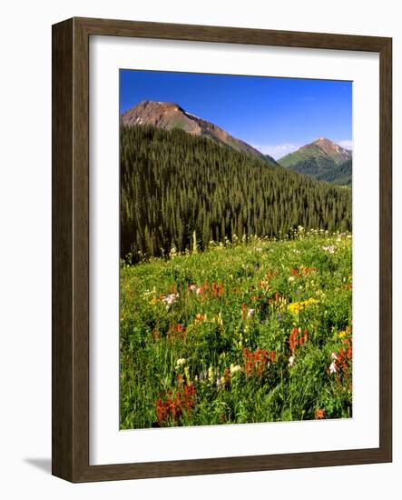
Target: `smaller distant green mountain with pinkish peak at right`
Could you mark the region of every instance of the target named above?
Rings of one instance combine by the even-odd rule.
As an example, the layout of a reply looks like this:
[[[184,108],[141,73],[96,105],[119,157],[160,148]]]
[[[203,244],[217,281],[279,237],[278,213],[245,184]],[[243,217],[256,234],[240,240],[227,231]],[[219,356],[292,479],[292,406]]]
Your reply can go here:
[[[280,158],[279,165],[337,185],[351,185],[352,154],[325,137]]]

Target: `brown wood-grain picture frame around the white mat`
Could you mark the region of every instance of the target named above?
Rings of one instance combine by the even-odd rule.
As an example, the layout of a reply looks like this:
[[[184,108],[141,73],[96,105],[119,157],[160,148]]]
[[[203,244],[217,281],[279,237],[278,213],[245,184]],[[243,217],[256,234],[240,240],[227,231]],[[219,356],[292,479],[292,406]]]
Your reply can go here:
[[[379,53],[379,447],[89,465],[89,37],[113,35]],[[86,482],[392,460],[392,39],[73,18],[53,26],[53,474]]]

